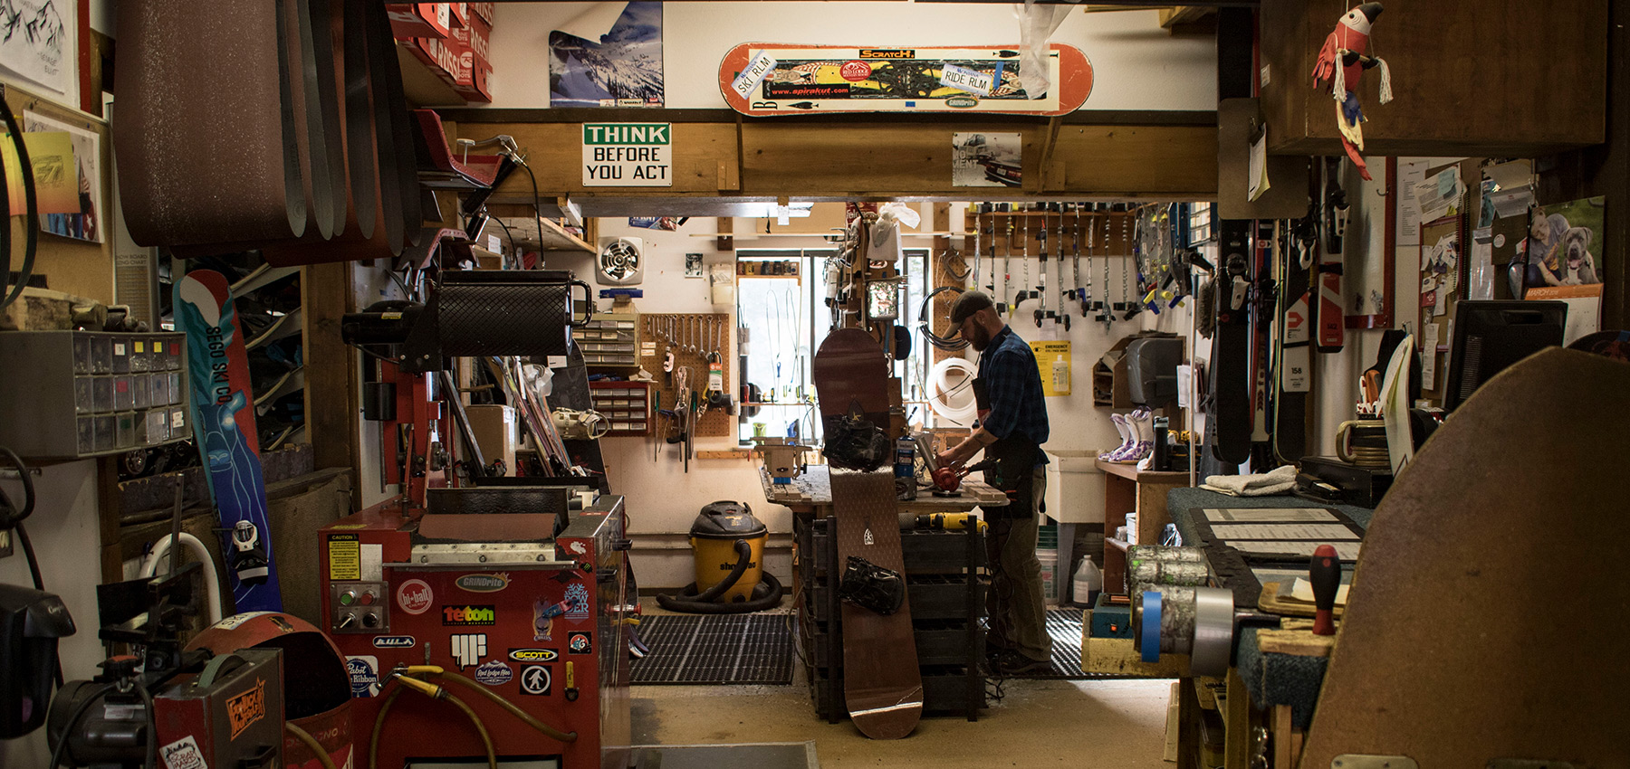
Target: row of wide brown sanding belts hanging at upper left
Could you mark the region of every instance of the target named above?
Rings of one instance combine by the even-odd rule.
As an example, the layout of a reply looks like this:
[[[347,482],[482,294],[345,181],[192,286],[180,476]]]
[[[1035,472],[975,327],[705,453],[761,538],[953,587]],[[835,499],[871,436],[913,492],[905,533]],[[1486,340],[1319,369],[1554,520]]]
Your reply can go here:
[[[417,239],[412,134],[381,3],[127,7],[119,36],[135,52],[121,57],[112,129],[137,243],[178,256],[266,248],[269,261],[310,264]]]

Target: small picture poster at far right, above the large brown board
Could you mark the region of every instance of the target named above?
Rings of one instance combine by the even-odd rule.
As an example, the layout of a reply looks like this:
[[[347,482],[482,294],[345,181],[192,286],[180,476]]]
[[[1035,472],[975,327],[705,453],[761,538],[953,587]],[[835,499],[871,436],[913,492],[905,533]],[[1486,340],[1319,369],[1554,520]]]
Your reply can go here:
[[[1602,282],[1602,197],[1535,205],[1518,257],[1527,262],[1527,287],[1596,285]]]

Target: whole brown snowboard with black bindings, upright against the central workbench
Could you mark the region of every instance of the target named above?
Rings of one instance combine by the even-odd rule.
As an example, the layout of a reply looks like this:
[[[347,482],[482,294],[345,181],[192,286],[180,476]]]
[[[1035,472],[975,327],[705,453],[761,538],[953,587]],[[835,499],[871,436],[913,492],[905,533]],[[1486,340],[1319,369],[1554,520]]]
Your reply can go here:
[[[843,697],[862,735],[898,740],[910,735],[923,715],[923,676],[911,604],[905,596],[893,440],[887,437],[888,358],[870,334],[836,329],[820,344],[812,375],[826,461],[833,464],[831,526],[843,575],[841,582],[836,573],[828,580],[844,596],[839,611]],[[882,453],[879,464],[866,469],[877,451]],[[852,469],[841,469],[844,466]]]

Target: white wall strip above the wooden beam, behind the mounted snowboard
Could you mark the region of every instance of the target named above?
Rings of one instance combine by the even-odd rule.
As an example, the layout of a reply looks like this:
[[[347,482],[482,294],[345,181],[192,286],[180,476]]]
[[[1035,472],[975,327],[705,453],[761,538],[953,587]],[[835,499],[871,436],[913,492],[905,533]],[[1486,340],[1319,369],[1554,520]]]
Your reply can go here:
[[[549,29],[595,3],[499,3],[492,108],[549,106]],[[989,46],[1019,41],[1007,3],[667,3],[667,108],[724,109],[719,62],[742,42]],[[1157,11],[1071,13],[1051,37],[1094,68],[1082,109],[1216,109],[1216,41],[1174,37]]]

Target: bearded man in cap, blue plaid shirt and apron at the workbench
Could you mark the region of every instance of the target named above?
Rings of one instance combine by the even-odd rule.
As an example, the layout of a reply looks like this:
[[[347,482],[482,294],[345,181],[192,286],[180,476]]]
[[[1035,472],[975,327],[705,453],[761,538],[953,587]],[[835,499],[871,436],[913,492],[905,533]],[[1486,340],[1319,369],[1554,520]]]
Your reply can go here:
[[[1014,334],[983,292],[963,292],[950,308],[950,323],[980,352],[978,427],[939,455],[941,466],[960,466],[985,451],[996,468],[985,479],[1007,492],[1009,505],[981,510],[989,521],[985,541],[994,578],[986,593],[986,648],[1002,675],[1051,670],[1046,604],[1042,600],[1042,562],[1035,557],[1037,518],[1046,490],[1048,438],[1042,373],[1030,345]],[[983,391],[983,393],[981,393]]]

